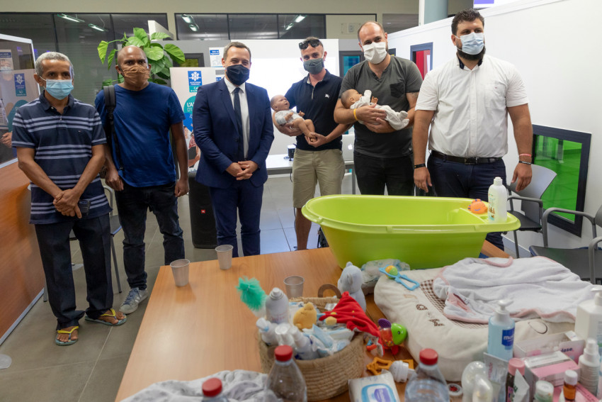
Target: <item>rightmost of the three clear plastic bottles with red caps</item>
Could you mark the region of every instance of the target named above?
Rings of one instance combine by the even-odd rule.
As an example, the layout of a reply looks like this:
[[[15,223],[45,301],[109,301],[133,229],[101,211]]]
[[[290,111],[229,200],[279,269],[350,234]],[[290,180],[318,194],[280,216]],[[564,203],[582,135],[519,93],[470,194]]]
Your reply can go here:
[[[449,402],[448,385],[437,366],[438,354],[432,349],[420,351],[416,373],[407,385],[406,402]]]

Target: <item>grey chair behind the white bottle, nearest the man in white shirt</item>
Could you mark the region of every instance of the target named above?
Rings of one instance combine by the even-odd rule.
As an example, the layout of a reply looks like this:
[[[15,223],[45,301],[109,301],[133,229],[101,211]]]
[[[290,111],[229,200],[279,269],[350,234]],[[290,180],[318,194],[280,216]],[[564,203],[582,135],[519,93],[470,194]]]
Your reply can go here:
[[[538,164],[532,164],[531,171],[533,172],[533,177],[526,189],[516,191],[516,182],[508,186],[510,194],[508,197],[508,200],[510,201],[510,211],[508,212],[513,216],[516,216],[521,222],[521,227],[516,230],[541,232],[541,222],[543,218],[543,201],[541,200],[541,196],[556,177],[556,172],[547,169],[547,167],[539,166]],[[522,212],[514,209],[514,200],[521,201]],[[516,250],[516,257],[518,258],[520,255],[518,254],[519,247],[516,230],[513,231],[513,235],[514,248]]]

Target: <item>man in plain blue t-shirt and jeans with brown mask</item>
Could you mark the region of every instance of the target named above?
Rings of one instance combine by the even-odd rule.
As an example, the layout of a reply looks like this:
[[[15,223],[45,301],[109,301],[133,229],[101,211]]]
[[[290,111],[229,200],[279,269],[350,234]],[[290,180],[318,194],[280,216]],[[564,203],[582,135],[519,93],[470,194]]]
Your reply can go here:
[[[115,189],[123,228],[123,263],[130,293],[120,307],[129,314],[148,297],[144,271],[144,230],[147,211],[157,217],[163,234],[165,264],[184,258],[184,240],[178,223],[178,197],[188,193],[188,154],[184,113],[173,89],[148,82],[150,66],[144,51],[126,46],[119,51],[115,85],[114,133],[106,147],[106,183]],[[96,110],[106,122],[104,94],[96,96]],[[174,138],[180,178],[176,180],[169,142]],[[111,135],[108,133],[108,135]]]

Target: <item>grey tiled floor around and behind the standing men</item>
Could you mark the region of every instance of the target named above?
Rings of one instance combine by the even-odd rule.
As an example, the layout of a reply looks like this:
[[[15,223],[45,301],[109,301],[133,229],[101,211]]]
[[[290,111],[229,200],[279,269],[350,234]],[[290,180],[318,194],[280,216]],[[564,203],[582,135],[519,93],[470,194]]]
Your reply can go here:
[[[292,191],[289,177],[271,177],[266,183],[261,211],[263,253],[295,249]],[[343,181],[343,193],[351,193],[351,174],[346,174]],[[215,259],[214,250],[196,249],[192,245],[188,196],[181,198],[179,212],[186,258],[191,261]],[[115,307],[123,302],[129,290],[121,258],[122,240],[123,233],[119,233],[115,237],[115,245],[124,292],[117,293],[114,284]],[[151,290],[159,267],[164,264],[162,241],[157,220],[149,213],[145,242],[146,269]],[[317,245],[316,225],[312,227],[308,245],[310,248]],[[72,242],[72,246],[73,262],[81,262],[76,242]],[[84,270],[78,269],[73,274],[77,304],[79,308],[85,308]],[[135,313],[127,316],[127,323],[115,328],[81,320],[79,342],[69,347],[59,347],[54,342],[56,320],[48,303],[43,303],[40,298],[0,345],[0,354],[8,354],[13,359],[11,367],[0,370],[0,401],[114,401],[145,308],[146,302],[142,302]],[[177,342],[166,340],[170,341]]]

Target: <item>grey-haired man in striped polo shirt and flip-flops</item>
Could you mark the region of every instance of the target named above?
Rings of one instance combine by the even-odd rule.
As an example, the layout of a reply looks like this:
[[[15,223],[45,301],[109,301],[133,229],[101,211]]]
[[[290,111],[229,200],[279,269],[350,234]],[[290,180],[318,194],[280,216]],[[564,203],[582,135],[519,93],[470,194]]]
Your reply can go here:
[[[98,172],[106,143],[93,106],[70,95],[73,67],[69,58],[47,52],[35,61],[34,79],[44,91],[21,106],[13,121],[18,164],[31,181],[30,223],[35,225],[48,301],[57,317],[57,345],[78,339],[69,233],[79,240],[84,259],[86,320],[106,325],[125,323],[113,310],[110,273],[110,207]]]

